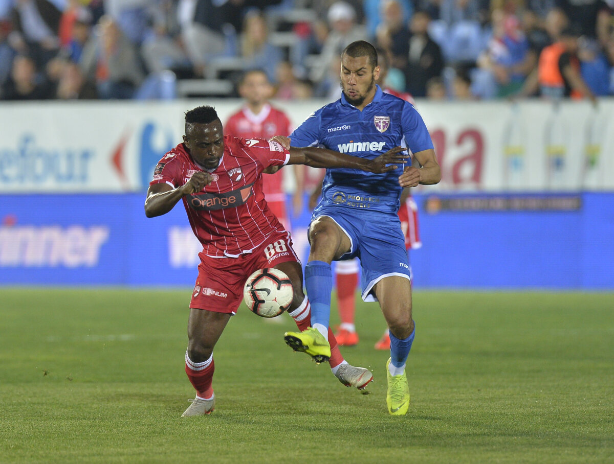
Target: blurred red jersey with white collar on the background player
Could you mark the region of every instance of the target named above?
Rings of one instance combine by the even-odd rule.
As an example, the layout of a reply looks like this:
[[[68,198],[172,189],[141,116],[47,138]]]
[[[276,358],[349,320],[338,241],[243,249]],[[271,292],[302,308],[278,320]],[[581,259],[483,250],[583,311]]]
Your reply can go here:
[[[269,104],[264,105],[262,111],[257,115],[249,108],[243,107],[231,115],[224,125],[226,135],[244,139],[270,139],[275,135],[287,137],[290,132],[292,132],[292,126],[286,113]],[[286,201],[283,182],[282,172],[263,176],[262,189],[267,200],[270,202]]]

